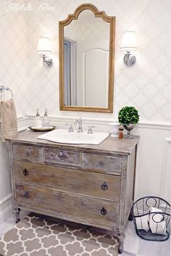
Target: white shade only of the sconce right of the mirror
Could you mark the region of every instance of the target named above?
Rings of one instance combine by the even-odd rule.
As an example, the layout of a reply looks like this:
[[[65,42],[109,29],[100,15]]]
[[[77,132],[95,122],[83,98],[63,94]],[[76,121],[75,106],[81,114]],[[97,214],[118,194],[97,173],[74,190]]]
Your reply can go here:
[[[123,33],[120,49],[124,51],[131,51],[137,49],[135,32],[126,31]]]

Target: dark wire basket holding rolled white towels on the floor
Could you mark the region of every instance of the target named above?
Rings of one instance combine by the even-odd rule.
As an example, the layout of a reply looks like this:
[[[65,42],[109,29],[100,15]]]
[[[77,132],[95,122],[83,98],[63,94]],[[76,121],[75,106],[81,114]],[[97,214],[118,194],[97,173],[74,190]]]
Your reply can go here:
[[[142,197],[131,208],[135,231],[142,239],[166,241],[170,237],[170,204],[159,197]]]

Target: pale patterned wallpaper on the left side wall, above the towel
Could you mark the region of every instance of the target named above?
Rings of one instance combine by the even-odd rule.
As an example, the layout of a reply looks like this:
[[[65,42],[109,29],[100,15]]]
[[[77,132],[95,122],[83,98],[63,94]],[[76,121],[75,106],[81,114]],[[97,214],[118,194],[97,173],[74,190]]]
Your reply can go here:
[[[22,4],[22,1],[18,2]],[[7,12],[7,1],[0,3],[0,85],[12,88],[17,115],[21,116],[28,109],[25,13]],[[11,94],[7,92],[2,99],[9,97]]]

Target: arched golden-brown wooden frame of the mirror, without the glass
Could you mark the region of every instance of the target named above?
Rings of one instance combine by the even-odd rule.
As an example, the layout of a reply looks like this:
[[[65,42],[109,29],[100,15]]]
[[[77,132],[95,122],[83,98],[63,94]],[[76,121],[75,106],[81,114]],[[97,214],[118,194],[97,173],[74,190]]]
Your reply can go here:
[[[72,20],[77,20],[80,12],[91,10],[95,17],[101,17],[104,22],[110,24],[109,35],[109,87],[108,87],[108,107],[77,107],[64,105],[64,27]],[[105,12],[93,6],[93,4],[81,4],[72,15],[68,15],[66,20],[59,21],[59,106],[60,110],[86,111],[86,112],[113,112],[114,97],[114,49],[115,49],[115,17],[107,16]]]

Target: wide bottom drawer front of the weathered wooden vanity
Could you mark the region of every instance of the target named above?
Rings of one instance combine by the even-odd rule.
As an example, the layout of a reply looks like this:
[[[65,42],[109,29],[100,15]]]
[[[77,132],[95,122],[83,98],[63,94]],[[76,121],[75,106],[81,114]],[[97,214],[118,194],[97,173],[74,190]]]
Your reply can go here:
[[[17,184],[17,203],[57,211],[76,218],[113,224],[118,222],[119,203],[91,197],[81,197],[53,189]]]

